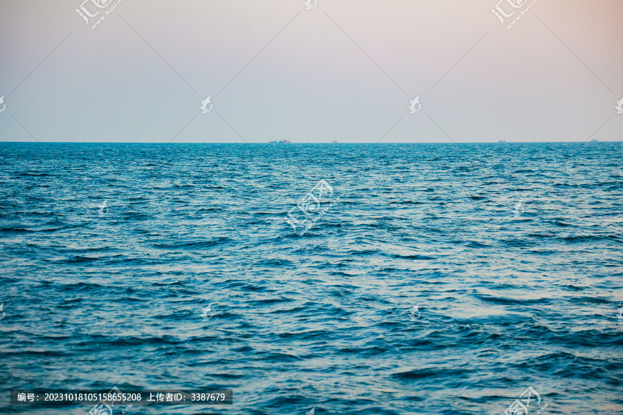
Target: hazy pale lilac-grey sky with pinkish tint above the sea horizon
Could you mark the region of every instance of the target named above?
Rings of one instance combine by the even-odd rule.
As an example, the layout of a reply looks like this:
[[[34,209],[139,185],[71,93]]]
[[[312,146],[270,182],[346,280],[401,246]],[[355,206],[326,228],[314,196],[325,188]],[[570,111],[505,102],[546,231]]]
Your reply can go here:
[[[620,141],[622,20],[620,0],[0,0],[0,141]]]

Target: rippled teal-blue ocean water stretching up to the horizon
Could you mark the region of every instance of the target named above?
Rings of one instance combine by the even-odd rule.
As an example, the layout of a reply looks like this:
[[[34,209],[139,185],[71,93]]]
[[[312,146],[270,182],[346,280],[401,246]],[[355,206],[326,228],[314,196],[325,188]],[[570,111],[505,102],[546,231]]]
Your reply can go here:
[[[0,143],[0,412],[623,414],[622,150]]]

